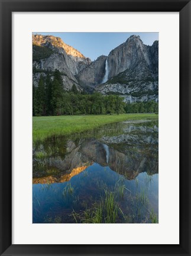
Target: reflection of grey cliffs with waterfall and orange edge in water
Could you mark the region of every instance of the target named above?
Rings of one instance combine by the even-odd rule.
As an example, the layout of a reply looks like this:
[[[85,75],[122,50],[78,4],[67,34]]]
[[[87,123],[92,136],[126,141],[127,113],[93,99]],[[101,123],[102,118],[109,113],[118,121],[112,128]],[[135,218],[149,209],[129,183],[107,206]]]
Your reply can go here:
[[[121,131],[113,136],[101,134],[98,139],[65,140],[62,143],[64,155],[44,159],[44,171],[40,171],[43,170],[39,167],[41,160],[34,158],[33,183],[69,181],[94,162],[103,168],[109,166],[128,180],[135,179],[140,172],[158,173],[157,126],[123,123]]]

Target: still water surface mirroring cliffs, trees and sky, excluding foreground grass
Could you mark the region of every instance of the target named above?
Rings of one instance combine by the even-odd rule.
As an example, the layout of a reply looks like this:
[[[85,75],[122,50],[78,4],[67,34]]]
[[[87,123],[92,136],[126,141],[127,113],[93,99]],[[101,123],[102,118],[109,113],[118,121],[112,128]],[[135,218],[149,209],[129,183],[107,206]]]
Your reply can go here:
[[[105,190],[131,216],[117,223],[150,223],[153,213],[158,216],[157,123],[109,124],[46,140],[34,152],[33,223],[75,223],[72,212],[90,209]]]

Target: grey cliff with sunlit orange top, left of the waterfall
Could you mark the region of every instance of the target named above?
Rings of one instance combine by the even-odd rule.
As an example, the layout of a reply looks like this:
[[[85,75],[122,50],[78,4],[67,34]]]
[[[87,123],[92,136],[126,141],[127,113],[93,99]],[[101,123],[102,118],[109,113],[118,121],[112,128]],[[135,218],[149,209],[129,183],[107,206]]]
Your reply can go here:
[[[72,46],[65,44],[59,37],[33,35],[34,85],[39,73],[53,72],[58,69],[63,75],[64,89],[71,89],[75,84],[82,89],[75,78],[80,71],[89,66],[91,60]]]

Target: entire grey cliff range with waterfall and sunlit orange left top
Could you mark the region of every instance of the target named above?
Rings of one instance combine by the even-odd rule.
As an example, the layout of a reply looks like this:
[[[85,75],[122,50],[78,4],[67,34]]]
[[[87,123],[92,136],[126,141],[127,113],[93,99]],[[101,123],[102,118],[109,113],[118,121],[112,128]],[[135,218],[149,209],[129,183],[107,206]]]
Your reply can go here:
[[[139,36],[131,36],[108,57],[91,62],[59,37],[33,35],[34,85],[40,75],[55,69],[61,72],[66,90],[75,84],[79,91],[120,95],[125,103],[158,101],[158,41],[147,46]]]

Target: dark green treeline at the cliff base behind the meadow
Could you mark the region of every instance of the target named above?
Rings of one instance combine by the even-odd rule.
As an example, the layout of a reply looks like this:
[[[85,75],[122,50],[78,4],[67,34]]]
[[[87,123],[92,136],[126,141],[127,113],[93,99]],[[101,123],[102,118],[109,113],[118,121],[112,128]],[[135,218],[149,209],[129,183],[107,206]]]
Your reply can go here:
[[[64,91],[61,73],[40,76],[38,87],[33,85],[33,116],[58,116],[73,114],[120,114],[158,112],[158,103],[125,104],[119,95],[102,95],[98,92],[79,92],[75,85]]]

